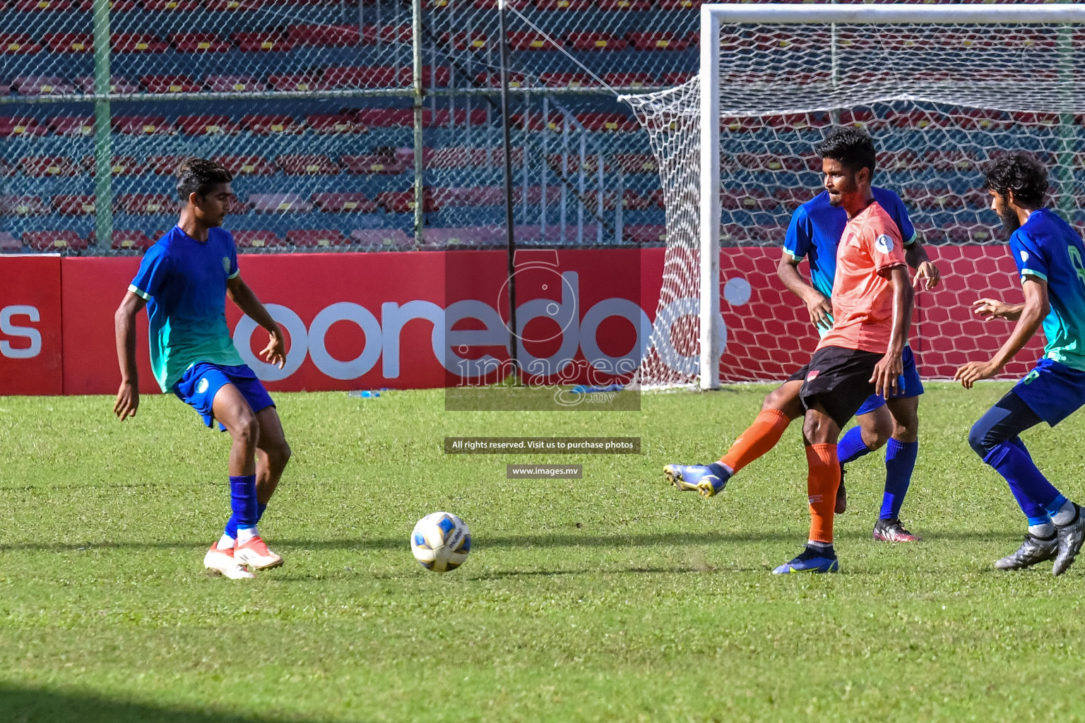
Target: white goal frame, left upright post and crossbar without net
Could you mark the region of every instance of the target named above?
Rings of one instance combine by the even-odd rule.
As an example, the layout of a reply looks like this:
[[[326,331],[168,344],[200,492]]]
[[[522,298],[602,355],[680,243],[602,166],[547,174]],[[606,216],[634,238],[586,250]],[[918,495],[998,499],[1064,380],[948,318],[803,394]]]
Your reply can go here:
[[[719,388],[719,28],[722,25],[1082,25],[1085,4],[701,5],[700,386]],[[831,49],[833,51],[834,49]]]

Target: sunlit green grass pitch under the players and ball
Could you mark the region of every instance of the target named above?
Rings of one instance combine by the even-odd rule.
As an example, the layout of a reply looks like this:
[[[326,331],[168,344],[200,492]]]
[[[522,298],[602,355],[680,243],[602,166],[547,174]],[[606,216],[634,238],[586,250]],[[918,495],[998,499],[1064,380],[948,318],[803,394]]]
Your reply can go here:
[[[851,465],[842,571],[769,573],[807,530],[797,425],[702,500],[768,387],[642,411],[448,413],[443,392],[277,395],[294,459],[261,525],[284,567],[204,574],[228,438],[171,397],[0,398],[0,721],[1029,721],[1085,719],[1085,563],[996,572],[1024,518],[968,448],[1007,388],[931,384],[905,506],[870,540],[881,454]],[[1085,416],[1026,434],[1085,498]],[[630,455],[445,455],[445,435],[638,436]],[[583,480],[508,480],[509,462]],[[447,509],[475,547],[414,563]]]

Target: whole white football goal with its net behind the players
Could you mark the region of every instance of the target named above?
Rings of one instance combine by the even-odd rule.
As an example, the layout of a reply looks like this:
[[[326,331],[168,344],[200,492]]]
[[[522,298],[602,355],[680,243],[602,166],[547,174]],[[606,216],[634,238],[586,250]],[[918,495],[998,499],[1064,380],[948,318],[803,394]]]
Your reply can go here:
[[[1021,294],[982,169],[999,154],[1032,152],[1050,169],[1051,205],[1071,223],[1085,218],[1085,26],[1076,25],[1085,8],[701,13],[699,76],[624,96],[656,157],[667,234],[639,383],[778,380],[807,360],[816,333],[776,267],[792,212],[822,190],[815,146],[846,124],[873,137],[875,184],[901,195],[943,274],[936,291],[916,296],[910,343],[921,374],[952,377],[997,349],[1010,327],[979,321],[972,302]],[[1005,374],[1020,375],[1041,346],[1034,339]]]

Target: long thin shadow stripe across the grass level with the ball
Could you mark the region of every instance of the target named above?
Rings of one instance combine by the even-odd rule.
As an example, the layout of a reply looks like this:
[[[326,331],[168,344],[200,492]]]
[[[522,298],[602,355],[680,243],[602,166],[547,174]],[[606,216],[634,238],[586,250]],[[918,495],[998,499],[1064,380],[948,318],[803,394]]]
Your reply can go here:
[[[928,542],[937,541],[1008,541],[1019,540],[1018,530],[946,530],[927,532],[923,539]],[[518,547],[653,547],[658,545],[713,545],[736,542],[794,542],[802,540],[803,530],[774,530],[767,532],[666,532],[661,534],[547,534],[547,535],[494,535],[480,538],[475,535],[477,546],[496,548]],[[866,531],[838,532],[837,538],[844,541],[869,541],[870,533]],[[276,538],[276,547],[282,550],[400,550],[406,547],[407,535],[401,538],[359,538],[350,540],[298,540],[292,538]],[[94,550],[199,550],[207,546],[205,540],[174,542],[81,542],[71,544],[46,543],[0,543],[0,552],[41,551],[41,552],[89,552]]]

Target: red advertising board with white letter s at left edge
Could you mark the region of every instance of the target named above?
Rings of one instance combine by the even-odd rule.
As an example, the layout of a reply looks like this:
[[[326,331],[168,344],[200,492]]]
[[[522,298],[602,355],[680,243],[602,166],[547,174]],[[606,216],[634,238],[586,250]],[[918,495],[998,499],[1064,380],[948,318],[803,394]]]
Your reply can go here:
[[[61,258],[0,257],[0,395],[59,395]]]

